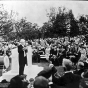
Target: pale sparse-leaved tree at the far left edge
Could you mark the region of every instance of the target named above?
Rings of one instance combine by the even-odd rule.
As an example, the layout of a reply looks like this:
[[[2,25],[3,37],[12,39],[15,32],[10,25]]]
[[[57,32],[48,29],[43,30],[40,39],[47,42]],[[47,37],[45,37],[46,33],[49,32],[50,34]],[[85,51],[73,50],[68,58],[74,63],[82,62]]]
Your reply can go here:
[[[13,19],[12,16],[4,9],[4,6],[0,7],[0,36],[9,39],[9,35],[13,31]]]

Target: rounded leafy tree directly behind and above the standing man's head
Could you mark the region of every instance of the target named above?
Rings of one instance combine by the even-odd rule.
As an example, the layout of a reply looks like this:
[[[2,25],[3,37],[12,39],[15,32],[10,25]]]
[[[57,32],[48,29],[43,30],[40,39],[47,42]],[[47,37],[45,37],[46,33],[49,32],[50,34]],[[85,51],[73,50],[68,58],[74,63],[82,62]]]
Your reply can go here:
[[[15,28],[18,38],[25,38],[26,40],[39,38],[39,26],[36,23],[28,22],[25,18],[16,22]]]

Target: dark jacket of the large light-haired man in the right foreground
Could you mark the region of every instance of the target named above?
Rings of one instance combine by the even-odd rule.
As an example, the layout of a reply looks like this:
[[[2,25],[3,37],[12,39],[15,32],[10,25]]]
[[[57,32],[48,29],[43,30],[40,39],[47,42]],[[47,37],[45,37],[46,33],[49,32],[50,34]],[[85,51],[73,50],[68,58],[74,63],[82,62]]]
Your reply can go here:
[[[79,85],[80,79],[81,79],[80,76],[69,72],[69,73],[66,73],[64,76],[62,76],[60,78],[54,77],[53,78],[53,83],[55,83],[59,86],[65,86],[65,87],[69,86],[69,85],[72,85],[71,88],[77,88],[77,86]],[[73,87],[73,86],[76,86],[76,87]],[[67,88],[69,88],[69,87],[67,87]]]

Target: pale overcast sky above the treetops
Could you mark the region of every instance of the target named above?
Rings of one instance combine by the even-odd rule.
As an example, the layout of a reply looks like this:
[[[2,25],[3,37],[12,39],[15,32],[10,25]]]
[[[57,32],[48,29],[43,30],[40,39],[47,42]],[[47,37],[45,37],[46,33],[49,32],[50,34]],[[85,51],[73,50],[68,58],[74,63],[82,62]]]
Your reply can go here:
[[[37,23],[39,26],[42,26],[44,22],[48,21],[46,16],[47,11],[51,7],[60,7],[65,6],[68,9],[72,9],[73,14],[77,18],[80,14],[88,14],[88,1],[61,1],[61,0],[12,0],[12,1],[0,1],[0,4],[4,5],[4,9],[8,12],[13,10],[18,13],[16,19],[21,19],[26,17],[27,21],[32,23]]]

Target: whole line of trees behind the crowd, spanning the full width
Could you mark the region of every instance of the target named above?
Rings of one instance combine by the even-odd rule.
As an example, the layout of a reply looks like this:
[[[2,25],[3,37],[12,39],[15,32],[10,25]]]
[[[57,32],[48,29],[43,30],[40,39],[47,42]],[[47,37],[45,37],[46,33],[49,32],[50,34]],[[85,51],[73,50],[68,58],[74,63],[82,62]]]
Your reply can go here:
[[[80,15],[76,19],[72,10],[65,7],[50,8],[46,13],[49,20],[41,27],[28,22],[26,18],[15,20],[14,14],[13,11],[8,13],[3,5],[0,6],[0,37],[6,41],[88,34],[88,15]]]

